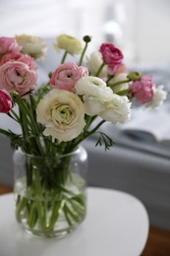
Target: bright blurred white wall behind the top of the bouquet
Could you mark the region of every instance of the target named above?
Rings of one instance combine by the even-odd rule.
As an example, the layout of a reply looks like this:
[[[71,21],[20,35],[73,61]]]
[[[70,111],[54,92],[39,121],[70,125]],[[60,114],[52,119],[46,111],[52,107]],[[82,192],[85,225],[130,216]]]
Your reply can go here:
[[[0,0],[0,35],[87,33],[90,51],[114,39],[127,61],[164,64],[170,61],[169,13],[169,0]]]

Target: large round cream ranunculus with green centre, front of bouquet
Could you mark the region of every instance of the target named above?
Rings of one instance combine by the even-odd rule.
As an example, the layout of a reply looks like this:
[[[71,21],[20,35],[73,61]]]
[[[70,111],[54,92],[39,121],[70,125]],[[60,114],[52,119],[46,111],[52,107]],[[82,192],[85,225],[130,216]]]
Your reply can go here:
[[[37,121],[45,125],[44,135],[67,142],[77,138],[85,127],[85,106],[79,96],[53,89],[36,108]]]

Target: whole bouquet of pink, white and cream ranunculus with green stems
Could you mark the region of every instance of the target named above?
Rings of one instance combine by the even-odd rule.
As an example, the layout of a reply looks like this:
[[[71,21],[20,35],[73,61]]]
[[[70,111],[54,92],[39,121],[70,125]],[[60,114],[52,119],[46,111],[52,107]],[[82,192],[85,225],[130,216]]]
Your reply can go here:
[[[158,107],[162,104],[166,98],[163,86],[156,88],[152,78],[142,76],[140,72],[128,73],[122,51],[112,43],[102,43],[97,51],[86,58],[83,66],[85,50],[90,40],[90,36],[86,35],[83,45],[75,37],[59,35],[54,47],[64,52],[61,64],[51,71],[47,83],[37,88],[35,59],[44,58],[44,40],[25,34],[15,38],[0,38],[0,112],[8,114],[19,123],[22,134],[14,134],[10,127],[9,130],[0,129],[0,133],[10,138],[14,149],[20,148],[22,152],[35,157],[57,158],[67,155],[75,151],[104,122],[123,124],[129,121],[132,100],[141,102],[145,107]],[[68,54],[73,59],[79,54],[80,58],[67,62]],[[19,111],[14,110],[15,105],[18,105]],[[104,144],[105,149],[113,145],[106,134],[98,134],[96,145]],[[36,161],[33,164],[36,165]],[[50,171],[49,175],[45,174],[41,178],[39,184],[43,195],[45,190],[54,189],[55,186],[60,190],[60,195],[62,191],[66,193],[65,184],[70,175],[66,166],[68,164],[69,160],[63,162],[63,165],[60,162],[60,168],[63,166],[67,171],[63,171],[58,183],[54,182],[57,179],[56,166],[54,168],[52,163],[45,166]],[[29,172],[29,175],[33,174]],[[36,179],[37,177],[28,176],[28,189],[31,193],[35,189]],[[68,191],[69,189],[67,193]],[[73,204],[72,208],[82,209],[82,199],[75,198],[77,206]],[[66,201],[66,196],[63,200]],[[59,211],[61,212],[61,205],[57,208],[58,211],[55,209],[56,219]],[[26,195],[23,198],[20,196],[17,204],[19,221],[24,206],[27,206],[29,219],[32,218],[32,226],[36,223],[32,221],[35,220],[33,211],[36,205],[28,203]],[[65,215],[69,220],[71,213],[67,208]],[[72,215],[71,217],[73,218]],[[49,224],[47,227],[44,222],[41,220],[44,229],[53,228],[53,225]]]

